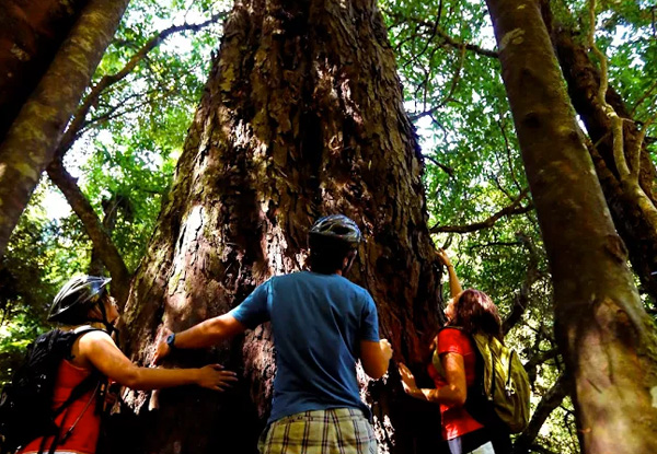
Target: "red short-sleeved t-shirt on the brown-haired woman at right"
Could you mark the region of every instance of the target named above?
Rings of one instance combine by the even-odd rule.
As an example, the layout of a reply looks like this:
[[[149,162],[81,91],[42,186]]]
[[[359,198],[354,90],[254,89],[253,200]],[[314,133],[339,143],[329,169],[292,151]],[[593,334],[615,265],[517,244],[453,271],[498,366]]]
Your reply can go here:
[[[442,329],[438,334],[436,350],[438,354],[449,352],[462,356],[465,364],[465,383],[469,387],[474,384],[476,356],[470,336],[456,328]],[[433,364],[429,364],[428,372],[437,388],[447,385],[445,379],[440,376]],[[442,417],[442,438],[445,440],[456,439],[483,428],[462,406],[454,407],[440,404],[440,415]]]

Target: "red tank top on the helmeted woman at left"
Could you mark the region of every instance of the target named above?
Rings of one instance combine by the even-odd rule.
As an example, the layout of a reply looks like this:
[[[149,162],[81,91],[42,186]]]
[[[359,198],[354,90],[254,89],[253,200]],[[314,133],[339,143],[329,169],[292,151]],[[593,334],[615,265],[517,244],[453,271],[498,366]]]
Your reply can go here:
[[[53,408],[59,407],[68,399],[73,388],[82,383],[91,374],[87,369],[78,368],[64,360],[59,366],[57,381],[55,382],[55,394],[53,397]],[[57,426],[61,428],[61,434],[66,433],[70,427],[76,424],[70,436],[61,444],[58,444],[56,451],[67,451],[80,454],[94,454],[101,430],[101,416],[96,414],[97,393],[95,388],[83,394],[67,407],[56,419]],[[80,420],[78,420],[80,418]],[[76,421],[78,422],[76,423]],[[43,436],[28,443],[19,454],[28,454],[38,452]],[[48,452],[53,438],[49,436],[44,445],[44,452]]]

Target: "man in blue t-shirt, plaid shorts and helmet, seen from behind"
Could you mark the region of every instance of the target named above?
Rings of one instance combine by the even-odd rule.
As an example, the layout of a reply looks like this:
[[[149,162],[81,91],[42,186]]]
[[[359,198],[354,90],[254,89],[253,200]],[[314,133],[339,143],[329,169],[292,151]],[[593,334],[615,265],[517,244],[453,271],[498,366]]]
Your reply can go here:
[[[310,271],[274,277],[229,313],[170,335],[158,346],[155,362],[172,349],[210,347],[270,321],[277,370],[261,453],[376,454],[356,361],[379,379],[392,350],[387,339],[379,340],[369,292],[343,277],[360,240],[349,218],[320,219],[309,233]]]

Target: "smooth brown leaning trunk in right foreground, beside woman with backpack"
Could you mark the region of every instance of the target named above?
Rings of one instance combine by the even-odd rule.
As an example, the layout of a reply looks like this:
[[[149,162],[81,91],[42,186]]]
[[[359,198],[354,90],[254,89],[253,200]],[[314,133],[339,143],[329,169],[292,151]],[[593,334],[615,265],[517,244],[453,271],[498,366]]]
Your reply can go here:
[[[578,133],[538,2],[487,0],[554,280],[586,453],[657,452],[655,331]]]

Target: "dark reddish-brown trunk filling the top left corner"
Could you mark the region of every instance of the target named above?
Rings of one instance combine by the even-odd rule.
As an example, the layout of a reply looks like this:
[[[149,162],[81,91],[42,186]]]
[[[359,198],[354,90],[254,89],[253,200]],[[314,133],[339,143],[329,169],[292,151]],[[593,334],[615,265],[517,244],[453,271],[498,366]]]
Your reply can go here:
[[[3,0],[0,142],[85,3],[87,0]]]

